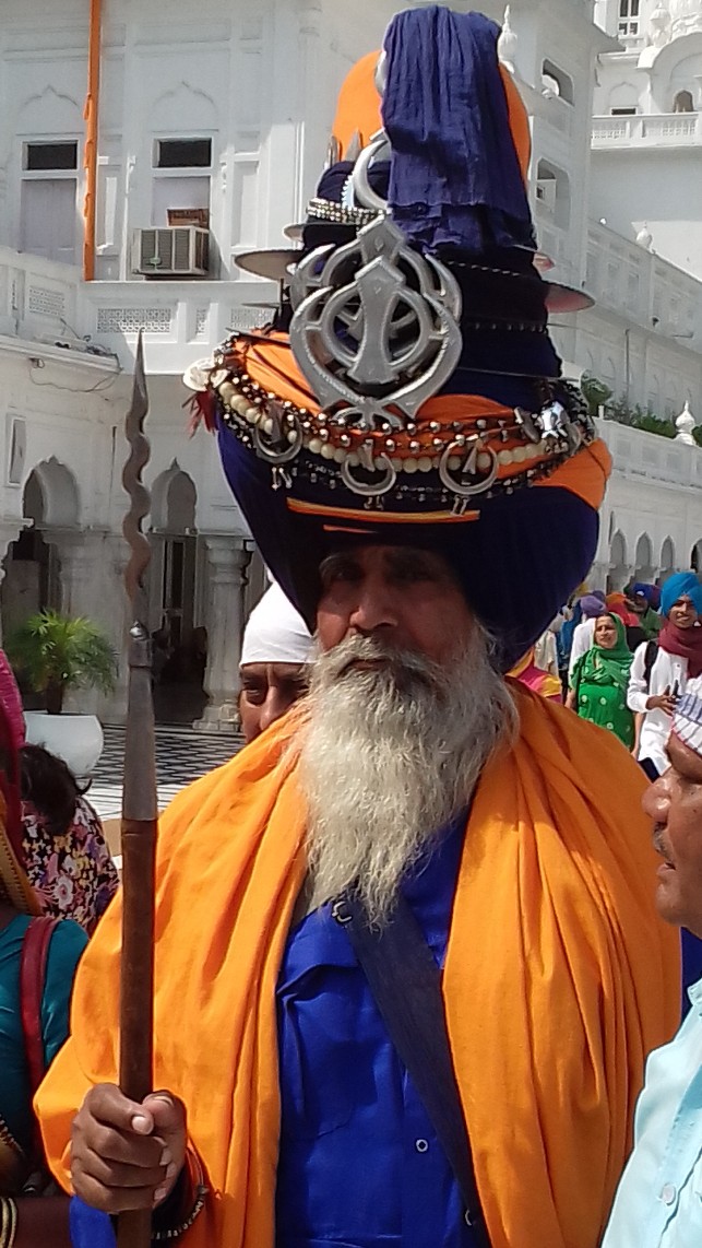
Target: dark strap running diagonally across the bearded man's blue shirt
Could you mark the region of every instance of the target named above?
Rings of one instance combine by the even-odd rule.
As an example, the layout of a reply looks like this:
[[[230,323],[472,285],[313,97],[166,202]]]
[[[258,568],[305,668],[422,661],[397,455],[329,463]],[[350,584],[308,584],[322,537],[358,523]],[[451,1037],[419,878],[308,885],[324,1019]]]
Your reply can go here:
[[[332,914],[347,930],[390,1040],[431,1119],[455,1174],[466,1224],[479,1248],[490,1248],[449,1048],[441,972],[434,955],[403,897],[382,930],[368,926],[363,907],[350,896],[335,901]]]

